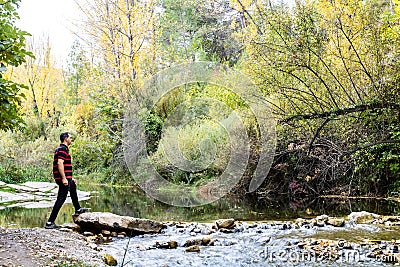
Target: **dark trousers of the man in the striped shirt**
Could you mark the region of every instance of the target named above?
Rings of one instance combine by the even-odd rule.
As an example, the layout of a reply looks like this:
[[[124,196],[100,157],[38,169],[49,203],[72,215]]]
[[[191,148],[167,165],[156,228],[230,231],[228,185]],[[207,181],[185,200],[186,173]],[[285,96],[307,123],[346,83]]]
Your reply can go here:
[[[75,210],[79,210],[81,206],[79,205],[78,201],[78,194],[76,192],[76,184],[72,179],[67,179],[68,180],[68,185],[65,186],[63,183],[60,181],[56,181],[58,184],[58,194],[57,194],[57,200],[56,203],[54,204],[53,210],[51,211],[50,217],[49,217],[49,222],[54,222],[57,218],[58,212],[60,211],[62,205],[64,204],[65,200],[67,199],[68,196],[68,191],[71,196],[72,204],[75,207]]]

